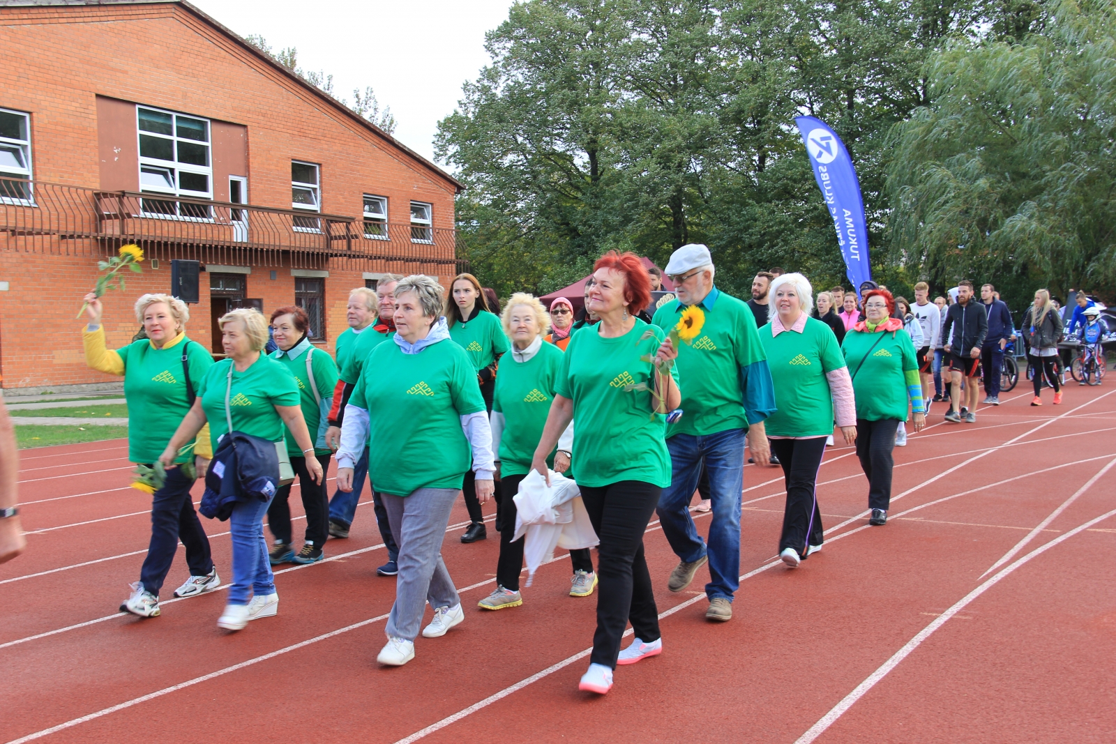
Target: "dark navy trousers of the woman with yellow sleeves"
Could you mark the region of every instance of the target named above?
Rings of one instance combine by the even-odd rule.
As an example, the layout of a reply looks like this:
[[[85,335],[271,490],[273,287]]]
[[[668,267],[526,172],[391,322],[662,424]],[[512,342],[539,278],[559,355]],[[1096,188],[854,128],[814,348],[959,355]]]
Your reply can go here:
[[[205,576],[213,570],[209,538],[194,512],[190,496],[193,479],[182,474],[181,467],[166,471],[166,483],[156,491],[151,502],[151,544],[140,569],[143,588],[158,597],[166,579],[179,540],[186,547],[186,566],[190,576]]]

